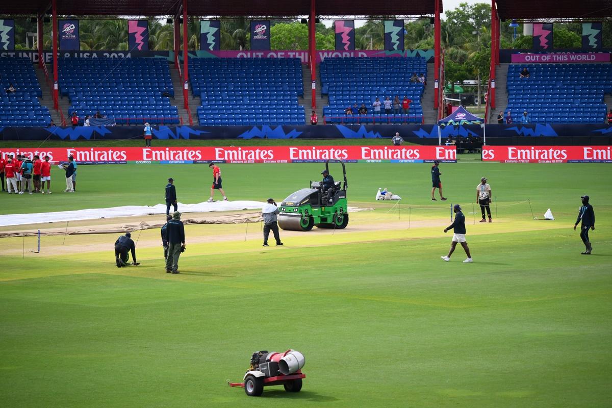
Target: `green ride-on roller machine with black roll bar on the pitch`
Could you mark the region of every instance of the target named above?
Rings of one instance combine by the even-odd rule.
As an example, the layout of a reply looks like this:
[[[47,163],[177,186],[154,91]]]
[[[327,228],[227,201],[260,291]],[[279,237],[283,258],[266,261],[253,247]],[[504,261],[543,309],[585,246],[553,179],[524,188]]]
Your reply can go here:
[[[310,231],[317,228],[343,229],[348,225],[348,201],[346,201],[346,168],[341,160],[327,160],[342,165],[344,182],[335,182],[332,191],[323,191],[321,182],[311,181],[310,188],[302,188],[289,195],[280,204],[278,226],[288,231]]]

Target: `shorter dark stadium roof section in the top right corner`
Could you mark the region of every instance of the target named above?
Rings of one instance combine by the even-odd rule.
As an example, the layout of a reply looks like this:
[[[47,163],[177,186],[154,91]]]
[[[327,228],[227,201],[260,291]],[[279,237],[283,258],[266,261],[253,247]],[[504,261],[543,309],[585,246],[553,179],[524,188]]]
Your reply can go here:
[[[497,0],[499,18],[510,20],[584,19],[604,20],[612,17],[610,0]]]

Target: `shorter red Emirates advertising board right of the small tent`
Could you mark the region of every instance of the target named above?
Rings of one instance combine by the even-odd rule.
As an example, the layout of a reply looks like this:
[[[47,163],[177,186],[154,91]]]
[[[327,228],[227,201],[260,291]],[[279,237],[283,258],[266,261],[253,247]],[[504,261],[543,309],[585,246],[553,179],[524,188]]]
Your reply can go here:
[[[482,161],[502,163],[612,163],[610,146],[483,146]]]

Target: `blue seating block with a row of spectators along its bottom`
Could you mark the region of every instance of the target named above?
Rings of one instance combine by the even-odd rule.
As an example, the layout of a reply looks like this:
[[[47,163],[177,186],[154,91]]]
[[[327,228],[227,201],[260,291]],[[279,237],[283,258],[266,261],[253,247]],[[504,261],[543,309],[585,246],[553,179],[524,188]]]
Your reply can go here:
[[[408,58],[326,58],[321,62],[321,92],[329,95],[329,106],[323,109],[327,122],[414,122],[421,123],[423,109],[420,104],[424,85],[411,83],[412,73],[421,73],[427,77],[427,62],[423,57]],[[374,116],[372,103],[376,97],[381,103],[388,96],[390,100],[407,95],[412,100],[408,117],[403,115],[384,114]],[[367,117],[355,113],[345,115],[347,106],[365,104]],[[335,119],[330,119],[335,118]]]

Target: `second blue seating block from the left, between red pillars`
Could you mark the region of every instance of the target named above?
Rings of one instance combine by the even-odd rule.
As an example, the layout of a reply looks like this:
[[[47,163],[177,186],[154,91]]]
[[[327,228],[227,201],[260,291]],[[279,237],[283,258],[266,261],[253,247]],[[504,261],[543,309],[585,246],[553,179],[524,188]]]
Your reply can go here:
[[[59,58],[59,92],[70,98],[69,116],[81,119],[100,111],[118,124],[177,124],[176,106],[166,59]]]

